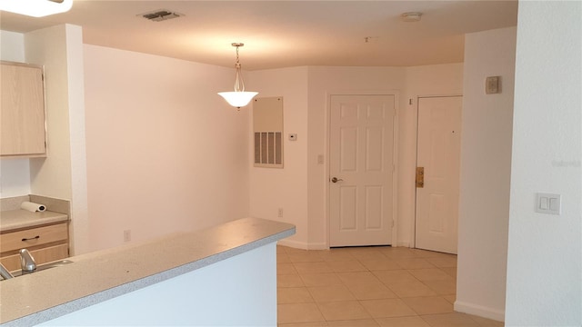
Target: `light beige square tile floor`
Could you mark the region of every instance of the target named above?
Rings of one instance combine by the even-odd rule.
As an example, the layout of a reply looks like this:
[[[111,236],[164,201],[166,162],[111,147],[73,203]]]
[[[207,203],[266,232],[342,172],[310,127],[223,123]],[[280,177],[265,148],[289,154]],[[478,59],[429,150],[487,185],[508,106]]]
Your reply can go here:
[[[278,325],[503,326],[454,312],[457,256],[392,247],[277,246]]]

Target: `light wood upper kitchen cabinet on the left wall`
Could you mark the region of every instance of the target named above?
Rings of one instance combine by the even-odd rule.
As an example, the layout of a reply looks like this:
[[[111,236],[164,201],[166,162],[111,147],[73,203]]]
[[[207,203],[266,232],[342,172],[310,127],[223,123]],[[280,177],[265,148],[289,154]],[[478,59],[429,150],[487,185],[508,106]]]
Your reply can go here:
[[[43,68],[31,64],[0,64],[0,156],[45,156]]]

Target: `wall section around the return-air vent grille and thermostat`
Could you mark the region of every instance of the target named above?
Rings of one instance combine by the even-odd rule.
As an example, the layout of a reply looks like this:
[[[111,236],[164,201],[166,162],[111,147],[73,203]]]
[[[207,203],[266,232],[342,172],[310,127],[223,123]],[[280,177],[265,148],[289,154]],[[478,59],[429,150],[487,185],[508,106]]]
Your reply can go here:
[[[279,241],[294,247],[305,247],[307,240],[307,67],[254,71],[247,74],[249,90],[260,91],[256,98],[283,97],[283,161],[284,167],[254,167],[255,145],[249,142],[250,213],[251,216],[293,223],[296,234]],[[249,131],[253,130],[253,105],[249,112]],[[297,134],[289,141],[289,134]],[[248,134],[254,140],[253,134]],[[279,217],[278,209],[283,209]]]

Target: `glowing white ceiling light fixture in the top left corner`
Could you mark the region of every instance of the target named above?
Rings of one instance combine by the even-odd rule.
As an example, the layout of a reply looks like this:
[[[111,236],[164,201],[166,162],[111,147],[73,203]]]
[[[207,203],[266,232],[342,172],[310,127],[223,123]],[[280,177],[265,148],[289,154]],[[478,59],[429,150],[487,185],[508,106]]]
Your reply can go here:
[[[0,0],[0,10],[20,15],[44,17],[69,11],[73,0]]]

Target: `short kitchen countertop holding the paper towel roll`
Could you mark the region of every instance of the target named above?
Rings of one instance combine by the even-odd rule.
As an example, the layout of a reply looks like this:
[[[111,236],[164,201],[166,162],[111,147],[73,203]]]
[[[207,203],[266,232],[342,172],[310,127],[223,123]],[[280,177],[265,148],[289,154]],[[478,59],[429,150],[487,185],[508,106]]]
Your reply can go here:
[[[0,232],[10,232],[27,227],[35,227],[47,223],[66,222],[68,216],[65,213],[31,213],[26,210],[9,210],[0,212]]]

